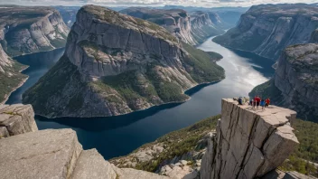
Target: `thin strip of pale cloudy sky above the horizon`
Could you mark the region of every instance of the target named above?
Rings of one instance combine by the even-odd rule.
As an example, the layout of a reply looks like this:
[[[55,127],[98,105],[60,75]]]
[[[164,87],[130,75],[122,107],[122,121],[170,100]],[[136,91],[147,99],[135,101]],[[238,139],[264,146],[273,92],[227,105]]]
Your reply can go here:
[[[280,3],[318,3],[318,0],[0,0],[0,5],[106,5],[106,6],[250,6]]]

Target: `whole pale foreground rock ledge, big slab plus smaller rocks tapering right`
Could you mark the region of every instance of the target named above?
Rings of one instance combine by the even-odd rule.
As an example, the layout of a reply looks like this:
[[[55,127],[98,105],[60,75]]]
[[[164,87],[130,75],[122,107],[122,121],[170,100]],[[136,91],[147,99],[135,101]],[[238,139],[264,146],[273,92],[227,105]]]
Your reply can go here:
[[[168,179],[110,165],[96,149],[83,151],[71,129],[41,130],[0,139],[1,178]]]

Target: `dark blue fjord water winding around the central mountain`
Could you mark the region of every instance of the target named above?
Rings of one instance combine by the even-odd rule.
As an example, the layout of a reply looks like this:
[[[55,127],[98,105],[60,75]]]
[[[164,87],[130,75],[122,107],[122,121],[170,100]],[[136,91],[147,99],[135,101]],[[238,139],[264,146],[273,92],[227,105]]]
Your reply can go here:
[[[110,118],[49,119],[36,116],[39,129],[72,128],[77,132],[84,149],[97,148],[106,159],[127,155],[157,137],[220,114],[222,98],[248,96],[251,89],[274,74],[275,71],[271,67],[274,61],[249,52],[229,50],[211,39],[197,48],[207,52],[219,52],[224,57],[218,64],[225,69],[226,79],[189,89],[186,93],[192,99]],[[58,61],[63,51],[64,49],[59,49],[15,58],[30,65],[29,69],[23,71],[30,78],[12,93],[6,103],[21,103],[23,92],[33,86]]]

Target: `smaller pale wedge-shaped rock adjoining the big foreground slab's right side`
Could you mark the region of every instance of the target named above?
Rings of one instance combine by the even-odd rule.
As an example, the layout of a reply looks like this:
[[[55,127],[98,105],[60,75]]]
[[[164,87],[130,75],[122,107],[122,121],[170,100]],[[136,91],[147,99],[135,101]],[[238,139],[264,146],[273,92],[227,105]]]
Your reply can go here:
[[[105,161],[96,149],[82,151],[71,179],[116,179],[111,164]]]

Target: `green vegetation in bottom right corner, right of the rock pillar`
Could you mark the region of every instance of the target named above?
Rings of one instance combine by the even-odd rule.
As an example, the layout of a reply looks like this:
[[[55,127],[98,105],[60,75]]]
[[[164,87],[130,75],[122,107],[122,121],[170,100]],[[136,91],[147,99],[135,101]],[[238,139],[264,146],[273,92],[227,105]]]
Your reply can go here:
[[[294,127],[300,145],[280,168],[318,177],[318,168],[308,162],[318,164],[318,124],[297,119]]]

